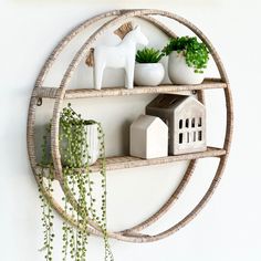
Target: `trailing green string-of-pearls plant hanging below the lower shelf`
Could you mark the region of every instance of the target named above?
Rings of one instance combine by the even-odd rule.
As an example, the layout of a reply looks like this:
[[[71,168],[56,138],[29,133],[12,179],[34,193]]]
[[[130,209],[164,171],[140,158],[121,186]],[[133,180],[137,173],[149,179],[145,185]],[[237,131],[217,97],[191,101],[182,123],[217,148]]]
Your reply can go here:
[[[97,157],[100,164],[98,180],[92,178],[92,170],[90,165],[96,158],[90,149],[90,130],[88,126],[95,125],[97,136],[94,142],[98,143]],[[43,226],[43,248],[44,258],[46,261],[53,260],[53,209],[46,197],[42,194],[41,187],[44,186],[46,191],[53,192],[53,163],[49,159],[48,140],[51,135],[51,124],[48,125],[42,143],[42,175],[40,175],[40,199],[42,201],[42,226]],[[100,230],[103,232],[105,247],[105,261],[113,261],[113,253],[109,248],[106,226],[106,160],[105,160],[105,144],[104,132],[101,123],[95,121],[85,121],[81,114],[74,112],[71,104],[64,107],[60,116],[60,152],[63,163],[63,179],[66,190],[77,199],[76,205],[71,202],[66,192],[62,198],[64,202],[65,213],[76,221],[76,227],[63,221],[63,261],[70,257],[75,261],[83,261],[86,259],[86,250],[88,243],[88,220],[94,221]],[[46,171],[48,169],[48,171]],[[94,196],[94,187],[102,189],[102,196],[97,200]]]

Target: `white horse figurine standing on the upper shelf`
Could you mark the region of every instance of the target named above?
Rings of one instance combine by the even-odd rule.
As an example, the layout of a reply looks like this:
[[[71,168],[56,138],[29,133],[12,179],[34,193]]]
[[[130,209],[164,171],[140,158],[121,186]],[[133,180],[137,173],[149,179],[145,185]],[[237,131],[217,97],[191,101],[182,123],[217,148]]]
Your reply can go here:
[[[140,27],[137,25],[134,30],[129,31],[115,46],[98,45],[90,55],[93,54],[93,63],[90,63],[87,58],[87,65],[94,65],[93,79],[94,88],[101,90],[102,79],[105,67],[124,69],[125,70],[125,87],[133,88],[134,82],[134,66],[136,45],[147,45],[148,39],[142,33]]]

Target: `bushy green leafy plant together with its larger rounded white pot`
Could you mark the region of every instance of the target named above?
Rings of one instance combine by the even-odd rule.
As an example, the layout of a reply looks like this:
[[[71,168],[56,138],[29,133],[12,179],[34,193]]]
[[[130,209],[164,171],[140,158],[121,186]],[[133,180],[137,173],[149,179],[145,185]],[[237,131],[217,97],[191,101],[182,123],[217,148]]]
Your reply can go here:
[[[168,76],[174,84],[200,84],[207,67],[209,51],[195,36],[170,39],[163,49],[168,55]]]

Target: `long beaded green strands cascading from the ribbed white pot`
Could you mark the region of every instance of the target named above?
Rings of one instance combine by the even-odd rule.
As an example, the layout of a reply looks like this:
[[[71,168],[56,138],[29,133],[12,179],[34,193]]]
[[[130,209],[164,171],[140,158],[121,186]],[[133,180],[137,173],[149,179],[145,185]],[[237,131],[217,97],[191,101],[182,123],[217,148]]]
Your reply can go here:
[[[102,188],[102,197],[97,200],[94,197],[94,181],[92,180],[92,170],[90,169],[88,160],[88,144],[86,139],[86,125],[96,124],[98,129],[100,140],[100,186]],[[76,220],[76,228],[70,226],[66,221],[63,222],[63,261],[69,257],[75,261],[86,259],[88,243],[88,220],[95,221],[103,232],[105,260],[113,261],[113,253],[108,243],[107,226],[106,226],[106,160],[105,160],[105,143],[102,125],[94,121],[82,119],[81,115],[73,111],[71,104],[63,108],[60,117],[60,143],[66,140],[66,149],[63,155],[66,166],[63,167],[63,177],[65,188],[76,198],[76,206],[69,201],[64,196],[64,211]],[[46,163],[48,149],[46,137],[50,136],[50,127],[43,139],[43,159]],[[83,159],[87,158],[86,161]],[[52,173],[52,163],[49,165],[49,173]],[[49,179],[52,180],[52,179]],[[51,184],[51,181],[50,181]],[[41,191],[41,189],[40,189]],[[45,200],[43,195],[41,199]],[[50,203],[45,202],[44,208],[51,210]],[[52,215],[53,217],[53,215]],[[44,237],[49,234],[50,226],[44,226]],[[49,240],[48,240],[49,241]],[[46,244],[46,248],[45,248]],[[44,250],[48,250],[49,244],[44,241]],[[50,249],[50,248],[49,248]],[[51,250],[53,247],[51,246]],[[52,260],[52,251],[48,251],[46,260]]]

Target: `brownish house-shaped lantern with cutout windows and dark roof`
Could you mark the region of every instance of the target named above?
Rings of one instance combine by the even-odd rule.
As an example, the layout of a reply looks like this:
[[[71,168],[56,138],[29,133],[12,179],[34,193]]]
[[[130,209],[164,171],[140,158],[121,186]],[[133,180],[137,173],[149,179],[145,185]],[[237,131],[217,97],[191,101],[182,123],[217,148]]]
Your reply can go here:
[[[206,108],[194,96],[160,94],[146,106],[146,114],[158,116],[168,125],[170,155],[207,149]]]

